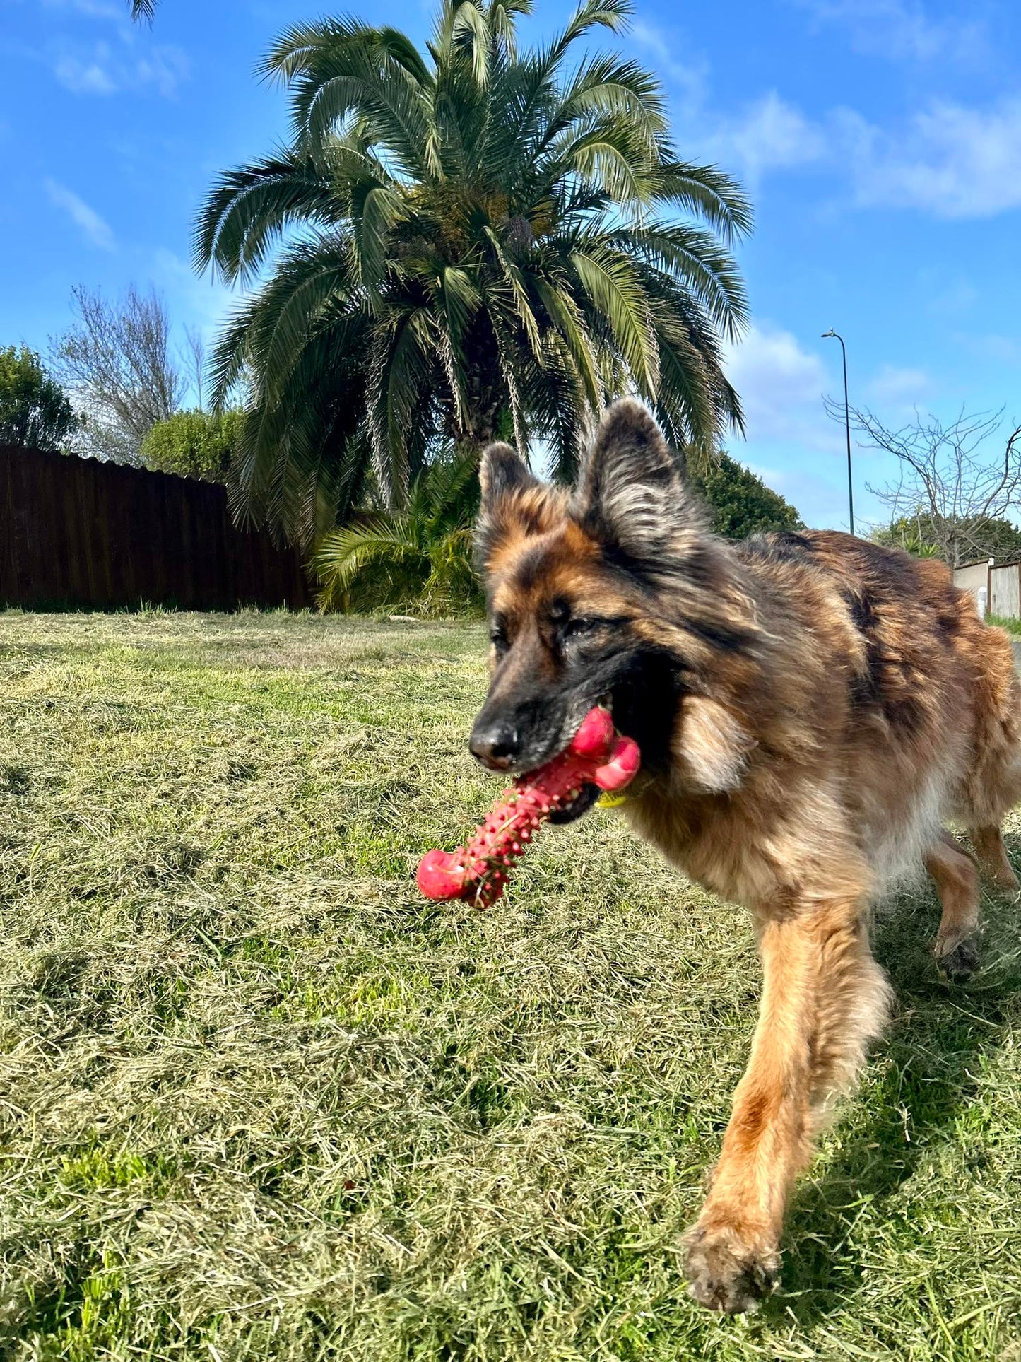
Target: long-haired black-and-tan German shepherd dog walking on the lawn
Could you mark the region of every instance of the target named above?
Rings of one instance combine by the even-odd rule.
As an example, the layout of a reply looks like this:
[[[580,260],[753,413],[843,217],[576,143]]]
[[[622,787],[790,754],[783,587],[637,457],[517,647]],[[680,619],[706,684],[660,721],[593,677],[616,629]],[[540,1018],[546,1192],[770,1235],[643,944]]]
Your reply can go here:
[[[813,1135],[886,1017],[870,906],[924,865],[935,956],[960,978],[979,963],[977,868],[1018,888],[999,829],[1021,798],[1010,642],[942,563],[834,531],[716,538],[637,402],[609,409],[572,492],[505,444],[481,477],[491,684],[471,750],[530,771],[609,706],[641,748],[632,827],[754,917],[758,1026],[686,1238],[694,1298],[747,1310],[777,1280]]]

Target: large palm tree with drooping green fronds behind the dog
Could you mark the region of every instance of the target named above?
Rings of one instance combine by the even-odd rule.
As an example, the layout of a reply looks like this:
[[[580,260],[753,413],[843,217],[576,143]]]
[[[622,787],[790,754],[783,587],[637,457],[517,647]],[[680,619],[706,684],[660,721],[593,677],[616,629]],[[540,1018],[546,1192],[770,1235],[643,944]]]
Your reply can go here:
[[[569,477],[623,391],[696,458],[741,426],[720,346],[746,316],[745,197],[677,158],[651,74],[574,57],[629,0],[584,0],[519,53],[530,8],[441,0],[426,56],[391,27],[297,25],[265,59],[291,142],[218,180],[195,260],[257,283],[212,376],[219,402],[248,391],[234,504],[289,539],[368,486],[400,508],[441,445],[539,439]]]

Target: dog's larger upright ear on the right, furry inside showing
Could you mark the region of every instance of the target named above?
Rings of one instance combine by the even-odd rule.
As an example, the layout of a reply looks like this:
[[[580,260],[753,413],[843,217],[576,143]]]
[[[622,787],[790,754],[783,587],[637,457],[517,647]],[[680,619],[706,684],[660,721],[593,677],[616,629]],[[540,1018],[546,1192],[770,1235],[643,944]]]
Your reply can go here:
[[[623,398],[606,411],[581,466],[572,513],[592,538],[652,561],[683,552],[685,531],[701,528],[681,463],[641,402]]]

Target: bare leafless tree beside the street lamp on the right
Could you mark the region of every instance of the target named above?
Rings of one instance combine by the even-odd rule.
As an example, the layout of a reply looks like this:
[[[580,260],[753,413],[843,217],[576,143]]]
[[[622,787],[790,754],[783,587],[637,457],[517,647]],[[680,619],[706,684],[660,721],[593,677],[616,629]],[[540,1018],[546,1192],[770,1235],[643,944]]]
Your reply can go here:
[[[843,422],[843,403],[828,400],[826,410]],[[1003,411],[968,415],[961,409],[950,422],[915,411],[915,419],[896,430],[867,410],[852,409],[851,421],[866,444],[897,459],[894,481],[869,486],[893,520],[924,523],[924,537],[950,567],[990,554],[994,523],[1018,509],[1021,425],[994,451],[994,439],[1003,439]]]

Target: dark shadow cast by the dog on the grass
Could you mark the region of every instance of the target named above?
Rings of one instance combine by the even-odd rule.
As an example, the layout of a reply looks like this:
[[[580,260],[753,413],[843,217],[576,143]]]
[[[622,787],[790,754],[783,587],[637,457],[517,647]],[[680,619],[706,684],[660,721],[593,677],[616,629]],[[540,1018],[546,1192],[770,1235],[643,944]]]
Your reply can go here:
[[[1021,850],[1021,839],[1006,840]],[[807,1328],[847,1309],[863,1282],[859,1254],[847,1246],[859,1215],[877,1205],[884,1214],[884,1201],[893,1203],[976,1095],[979,1060],[1001,1047],[1010,1000],[1021,992],[1021,906],[984,895],[983,917],[983,968],[964,986],[945,982],[928,951],[939,919],[934,892],[903,895],[878,917],[874,948],[893,985],[893,1020],[858,1111],[837,1126],[840,1152],[795,1193],[784,1290],[766,1303],[766,1318],[794,1314]],[[900,1212],[892,1204],[889,1214]]]

